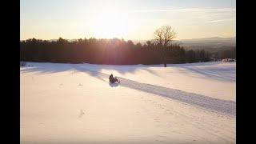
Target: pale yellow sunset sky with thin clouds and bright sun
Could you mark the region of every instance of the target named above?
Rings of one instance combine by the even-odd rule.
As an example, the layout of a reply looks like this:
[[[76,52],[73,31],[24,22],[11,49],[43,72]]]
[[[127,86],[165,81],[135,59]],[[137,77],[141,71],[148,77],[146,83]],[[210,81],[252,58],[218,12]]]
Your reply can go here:
[[[175,39],[236,35],[235,0],[21,0],[21,40],[152,39],[172,26]]]

